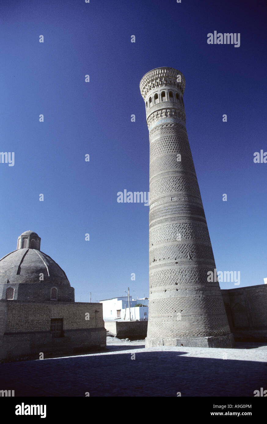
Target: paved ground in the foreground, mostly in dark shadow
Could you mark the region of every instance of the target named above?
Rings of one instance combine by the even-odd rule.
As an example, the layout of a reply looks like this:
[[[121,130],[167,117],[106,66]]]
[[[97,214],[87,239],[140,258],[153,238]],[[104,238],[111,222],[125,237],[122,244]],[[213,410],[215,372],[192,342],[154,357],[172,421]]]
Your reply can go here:
[[[135,353],[135,359],[131,359]],[[0,365],[15,396],[253,396],[267,389],[267,345],[163,346],[107,338],[107,351]]]

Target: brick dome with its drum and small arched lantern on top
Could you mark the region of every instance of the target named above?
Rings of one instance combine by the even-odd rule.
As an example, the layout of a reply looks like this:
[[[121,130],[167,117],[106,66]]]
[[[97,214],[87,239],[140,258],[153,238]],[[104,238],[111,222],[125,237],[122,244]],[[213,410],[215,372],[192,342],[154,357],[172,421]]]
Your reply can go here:
[[[74,289],[65,272],[40,251],[41,238],[33,231],[18,237],[17,250],[0,259],[0,298],[74,302]]]

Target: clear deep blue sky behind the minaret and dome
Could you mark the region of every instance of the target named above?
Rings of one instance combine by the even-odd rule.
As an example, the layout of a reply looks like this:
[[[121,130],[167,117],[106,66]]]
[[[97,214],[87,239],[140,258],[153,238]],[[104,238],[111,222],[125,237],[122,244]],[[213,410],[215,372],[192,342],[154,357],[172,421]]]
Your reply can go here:
[[[121,296],[128,286],[148,296],[149,208],[119,204],[117,192],[149,191],[139,82],[169,66],[185,75],[186,127],[217,270],[241,271],[240,287],[263,284],[267,164],[255,164],[253,153],[267,151],[266,21],[263,0],[3,0],[0,151],[14,151],[15,164],[0,164],[0,257],[31,229],[77,301],[90,291],[92,301]],[[214,30],[241,33],[240,47],[208,45]]]

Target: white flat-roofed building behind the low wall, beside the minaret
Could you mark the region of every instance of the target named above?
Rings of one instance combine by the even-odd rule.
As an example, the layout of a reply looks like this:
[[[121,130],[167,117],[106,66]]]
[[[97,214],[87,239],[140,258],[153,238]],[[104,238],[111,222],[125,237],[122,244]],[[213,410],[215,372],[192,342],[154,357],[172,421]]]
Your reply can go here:
[[[130,298],[131,319],[146,321],[148,318],[148,298],[132,299]],[[99,301],[103,305],[104,320],[129,320],[128,296],[115,297]],[[143,306],[135,306],[142,304]]]

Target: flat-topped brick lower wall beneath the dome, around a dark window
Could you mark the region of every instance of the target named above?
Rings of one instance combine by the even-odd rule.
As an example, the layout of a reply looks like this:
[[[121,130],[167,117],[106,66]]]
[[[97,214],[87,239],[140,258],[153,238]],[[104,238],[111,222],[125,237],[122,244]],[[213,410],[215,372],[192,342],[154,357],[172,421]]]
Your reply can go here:
[[[89,313],[89,320],[86,314]],[[64,337],[52,338],[51,318],[63,318]],[[0,360],[86,353],[105,348],[100,303],[0,300]]]

